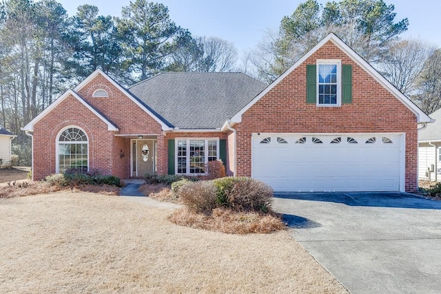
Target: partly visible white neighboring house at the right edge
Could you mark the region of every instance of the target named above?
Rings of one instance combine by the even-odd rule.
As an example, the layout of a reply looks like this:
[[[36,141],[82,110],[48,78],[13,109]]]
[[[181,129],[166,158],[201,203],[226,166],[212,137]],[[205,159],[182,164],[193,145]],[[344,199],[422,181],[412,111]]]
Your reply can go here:
[[[430,117],[435,123],[418,132],[418,178],[441,180],[441,109]]]

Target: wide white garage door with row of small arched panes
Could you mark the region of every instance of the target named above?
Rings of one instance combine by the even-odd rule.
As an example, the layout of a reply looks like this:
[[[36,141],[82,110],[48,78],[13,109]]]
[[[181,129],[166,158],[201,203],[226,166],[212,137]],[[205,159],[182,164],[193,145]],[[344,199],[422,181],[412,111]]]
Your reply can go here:
[[[402,191],[402,134],[253,134],[252,177],[274,191]]]

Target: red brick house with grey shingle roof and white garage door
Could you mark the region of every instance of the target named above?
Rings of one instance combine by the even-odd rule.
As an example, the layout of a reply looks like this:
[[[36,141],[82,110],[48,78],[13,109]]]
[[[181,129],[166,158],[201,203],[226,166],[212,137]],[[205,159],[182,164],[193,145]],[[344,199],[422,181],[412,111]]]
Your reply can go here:
[[[96,70],[23,127],[33,176],[229,175],[275,191],[415,191],[431,118],[334,34],[268,87],[238,73],[158,74],[124,89]]]

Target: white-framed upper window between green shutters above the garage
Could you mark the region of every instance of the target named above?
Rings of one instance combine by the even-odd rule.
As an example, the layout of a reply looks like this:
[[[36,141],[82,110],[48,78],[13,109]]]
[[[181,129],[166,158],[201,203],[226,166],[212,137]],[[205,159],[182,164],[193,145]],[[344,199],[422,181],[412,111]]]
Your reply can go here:
[[[317,105],[341,104],[340,61],[317,61]]]

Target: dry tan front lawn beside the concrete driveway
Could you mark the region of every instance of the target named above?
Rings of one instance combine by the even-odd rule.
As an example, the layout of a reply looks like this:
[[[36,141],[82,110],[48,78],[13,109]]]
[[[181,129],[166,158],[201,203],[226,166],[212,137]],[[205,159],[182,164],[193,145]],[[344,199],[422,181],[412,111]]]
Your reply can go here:
[[[347,293],[286,231],[229,235],[169,213],[72,191],[0,199],[1,293]]]

